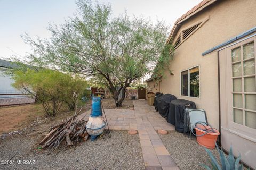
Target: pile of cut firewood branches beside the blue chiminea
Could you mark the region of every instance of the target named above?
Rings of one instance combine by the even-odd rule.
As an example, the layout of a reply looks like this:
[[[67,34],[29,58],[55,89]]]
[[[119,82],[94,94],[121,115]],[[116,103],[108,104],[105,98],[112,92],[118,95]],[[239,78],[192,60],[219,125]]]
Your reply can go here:
[[[81,109],[82,110],[82,109]],[[67,146],[73,145],[73,143],[78,141],[86,141],[89,138],[89,134],[86,132],[87,121],[84,117],[79,119],[75,113],[74,116],[62,121],[58,125],[51,127],[50,132],[46,137],[39,143],[43,145],[42,149],[45,148],[57,148],[61,142],[65,141]]]

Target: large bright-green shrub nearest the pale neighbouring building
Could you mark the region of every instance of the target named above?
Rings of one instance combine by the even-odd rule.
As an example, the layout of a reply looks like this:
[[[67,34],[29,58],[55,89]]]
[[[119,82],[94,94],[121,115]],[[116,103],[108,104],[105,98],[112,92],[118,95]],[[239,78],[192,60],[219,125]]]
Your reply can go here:
[[[26,93],[36,93],[35,97],[44,107],[45,116],[55,116],[62,105],[62,77],[62,73],[52,70],[16,71],[13,76],[15,80],[13,86]]]

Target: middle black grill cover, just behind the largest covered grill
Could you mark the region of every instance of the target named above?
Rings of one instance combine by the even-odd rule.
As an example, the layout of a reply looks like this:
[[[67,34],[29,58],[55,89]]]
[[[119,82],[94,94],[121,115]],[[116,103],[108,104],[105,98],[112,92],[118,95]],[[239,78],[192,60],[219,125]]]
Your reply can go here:
[[[157,98],[157,109],[161,116],[166,117],[169,111],[169,105],[172,100],[177,98],[171,94],[164,94]]]

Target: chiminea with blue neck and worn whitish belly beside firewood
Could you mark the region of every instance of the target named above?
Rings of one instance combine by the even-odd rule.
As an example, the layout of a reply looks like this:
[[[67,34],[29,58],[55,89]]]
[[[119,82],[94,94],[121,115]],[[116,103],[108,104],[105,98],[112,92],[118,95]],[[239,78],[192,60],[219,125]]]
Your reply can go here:
[[[105,129],[105,125],[106,123],[103,120],[103,116],[102,116],[100,97],[93,97],[92,112],[86,124],[86,131],[89,135],[91,135],[92,141],[95,138],[97,138],[98,135],[103,133]]]

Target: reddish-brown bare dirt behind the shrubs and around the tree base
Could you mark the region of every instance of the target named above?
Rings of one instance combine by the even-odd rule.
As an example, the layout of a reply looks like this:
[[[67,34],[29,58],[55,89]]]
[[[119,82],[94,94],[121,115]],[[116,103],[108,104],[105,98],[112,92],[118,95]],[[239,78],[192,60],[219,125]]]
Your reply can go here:
[[[103,99],[103,107],[116,108],[115,101],[113,99]],[[91,108],[91,100],[87,104],[78,104],[78,108],[83,108],[82,112],[85,112]],[[118,109],[133,109],[132,100],[125,100],[123,106]],[[0,135],[3,133],[9,133],[15,130],[21,130],[32,125],[33,130],[35,126],[44,124],[51,126],[65,120],[67,117],[74,114],[74,111],[69,111],[66,105],[63,105],[55,117],[49,117],[45,119],[43,107],[40,104],[28,104],[20,106],[8,106],[0,107]],[[34,125],[33,125],[34,124]]]

